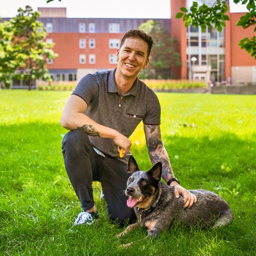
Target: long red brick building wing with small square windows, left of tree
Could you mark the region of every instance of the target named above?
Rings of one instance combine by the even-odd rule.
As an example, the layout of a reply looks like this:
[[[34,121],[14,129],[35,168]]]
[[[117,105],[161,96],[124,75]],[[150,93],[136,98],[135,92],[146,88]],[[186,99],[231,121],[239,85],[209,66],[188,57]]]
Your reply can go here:
[[[148,19],[67,18],[65,8],[38,8],[47,41],[59,56],[47,64],[54,81],[79,80],[85,74],[116,67],[116,49],[124,33]],[[50,14],[51,13],[51,14]],[[54,17],[53,17],[54,13]],[[154,19],[170,31],[170,19]]]

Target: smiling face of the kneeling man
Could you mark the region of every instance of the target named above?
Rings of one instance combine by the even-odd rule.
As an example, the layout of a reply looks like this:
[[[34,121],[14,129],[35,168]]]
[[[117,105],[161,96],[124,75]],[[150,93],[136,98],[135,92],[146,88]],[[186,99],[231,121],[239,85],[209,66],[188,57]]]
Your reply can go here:
[[[117,68],[126,77],[137,77],[142,68],[147,67],[148,44],[140,38],[126,38],[116,51]]]

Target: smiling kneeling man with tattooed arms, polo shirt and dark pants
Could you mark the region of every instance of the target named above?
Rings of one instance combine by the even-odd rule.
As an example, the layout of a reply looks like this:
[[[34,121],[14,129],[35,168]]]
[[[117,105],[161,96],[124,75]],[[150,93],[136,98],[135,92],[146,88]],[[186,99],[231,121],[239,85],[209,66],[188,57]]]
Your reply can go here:
[[[129,136],[141,120],[152,164],[165,160],[162,177],[175,186],[177,197],[182,194],[184,207],[196,202],[194,195],[179,186],[164,145],[161,158],[153,156],[157,143],[162,141],[161,109],[156,94],[138,79],[149,63],[153,44],[152,37],[138,29],[125,33],[116,51],[115,70],[84,76],[65,104],[61,125],[70,132],[63,138],[63,157],[83,209],[74,225],[90,225],[99,217],[92,189],[96,180],[101,182],[111,220],[120,225],[135,220],[133,209],[126,205],[124,190],[132,145]],[[120,148],[124,158],[119,156]]]

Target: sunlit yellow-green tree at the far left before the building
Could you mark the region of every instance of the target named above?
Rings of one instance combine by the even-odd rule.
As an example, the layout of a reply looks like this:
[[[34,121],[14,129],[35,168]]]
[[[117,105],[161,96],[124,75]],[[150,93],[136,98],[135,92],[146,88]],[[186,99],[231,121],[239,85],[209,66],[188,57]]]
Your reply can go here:
[[[44,42],[47,35],[44,24],[38,21],[39,12],[31,6],[19,8],[18,14],[0,26],[0,81],[10,86],[11,79],[29,81],[31,90],[34,79],[51,81],[46,68],[47,60],[58,55],[52,51],[53,44]]]

